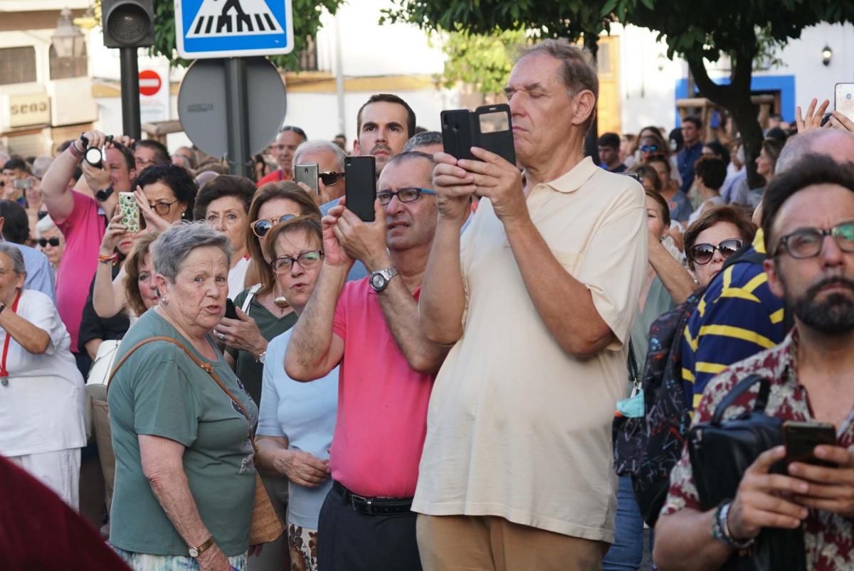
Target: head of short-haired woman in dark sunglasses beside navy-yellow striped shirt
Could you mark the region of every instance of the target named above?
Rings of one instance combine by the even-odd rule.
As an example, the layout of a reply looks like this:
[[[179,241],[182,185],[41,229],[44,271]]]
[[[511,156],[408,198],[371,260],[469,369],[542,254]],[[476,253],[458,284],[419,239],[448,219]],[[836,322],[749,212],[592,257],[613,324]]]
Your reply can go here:
[[[756,226],[739,207],[706,209],[685,231],[688,267],[701,288],[721,271],[723,263],[745,244],[753,241]]]

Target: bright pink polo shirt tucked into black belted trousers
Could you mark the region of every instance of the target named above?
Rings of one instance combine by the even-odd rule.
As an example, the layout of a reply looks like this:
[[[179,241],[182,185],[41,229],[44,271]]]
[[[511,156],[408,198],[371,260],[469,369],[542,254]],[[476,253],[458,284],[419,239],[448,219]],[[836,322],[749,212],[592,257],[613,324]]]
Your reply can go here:
[[[367,277],[344,285],[332,330],[344,341],[332,478],[363,496],[411,498],[436,376],[409,368]]]

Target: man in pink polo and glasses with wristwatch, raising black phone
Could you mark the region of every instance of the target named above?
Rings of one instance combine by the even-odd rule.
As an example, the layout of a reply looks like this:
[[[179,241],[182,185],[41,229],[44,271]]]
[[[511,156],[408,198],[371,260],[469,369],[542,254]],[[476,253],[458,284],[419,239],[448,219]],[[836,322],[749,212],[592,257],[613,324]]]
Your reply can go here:
[[[323,269],[284,363],[299,381],[341,364],[320,571],[421,568],[410,507],[430,391],[446,353],[418,329],[436,230],[432,168],[429,154],[398,154],[377,183],[375,222],[343,205],[323,219]],[[354,259],[371,275],[345,283]]]

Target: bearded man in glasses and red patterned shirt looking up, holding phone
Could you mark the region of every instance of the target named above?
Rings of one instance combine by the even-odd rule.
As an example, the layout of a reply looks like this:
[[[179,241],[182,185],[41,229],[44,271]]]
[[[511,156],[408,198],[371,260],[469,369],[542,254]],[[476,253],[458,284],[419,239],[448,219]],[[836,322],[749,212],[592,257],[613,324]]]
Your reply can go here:
[[[837,445],[813,450],[829,466],[793,462],[773,475],[785,447],[763,452],[734,499],[707,511],[699,509],[685,448],[655,530],[654,560],[662,569],[720,568],[763,528],[802,524],[807,568],[854,567],[854,162],[805,155],[766,190],[762,227],[769,287],[793,309],[794,329],[715,377],[694,422],[708,422],[732,387],[758,375],[770,382],[767,414],[832,423]],[[727,416],[751,410],[755,395],[743,393]]]

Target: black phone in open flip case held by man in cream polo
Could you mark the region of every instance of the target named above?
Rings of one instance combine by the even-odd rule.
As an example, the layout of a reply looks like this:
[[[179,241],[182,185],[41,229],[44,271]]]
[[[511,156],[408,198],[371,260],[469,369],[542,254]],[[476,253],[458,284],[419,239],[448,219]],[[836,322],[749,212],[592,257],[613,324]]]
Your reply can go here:
[[[442,146],[447,154],[458,159],[474,160],[472,147],[480,147],[516,164],[513,148],[513,124],[510,106],[483,105],[474,110],[442,111]]]

